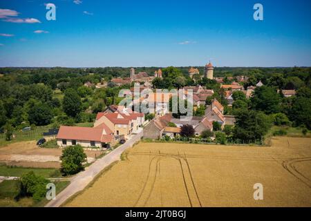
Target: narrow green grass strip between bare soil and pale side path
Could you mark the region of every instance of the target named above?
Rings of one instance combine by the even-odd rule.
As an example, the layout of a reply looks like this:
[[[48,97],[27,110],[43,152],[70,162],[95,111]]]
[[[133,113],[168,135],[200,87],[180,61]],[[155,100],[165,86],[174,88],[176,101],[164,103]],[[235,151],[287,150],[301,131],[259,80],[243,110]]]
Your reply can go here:
[[[50,177],[62,177],[60,173],[58,173],[57,169],[38,169],[38,168],[24,168],[17,166],[5,166],[0,165],[0,176],[5,177],[20,177],[21,175],[33,171],[37,175],[41,175],[46,178]]]

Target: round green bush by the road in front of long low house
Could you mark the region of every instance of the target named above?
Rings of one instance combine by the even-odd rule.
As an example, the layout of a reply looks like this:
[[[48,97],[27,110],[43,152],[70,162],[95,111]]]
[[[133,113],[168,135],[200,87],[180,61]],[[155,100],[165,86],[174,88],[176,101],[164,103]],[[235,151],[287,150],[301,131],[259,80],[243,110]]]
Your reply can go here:
[[[60,160],[62,160],[62,173],[64,175],[73,175],[84,169],[82,163],[86,162],[86,154],[80,145],[68,146],[64,148]]]

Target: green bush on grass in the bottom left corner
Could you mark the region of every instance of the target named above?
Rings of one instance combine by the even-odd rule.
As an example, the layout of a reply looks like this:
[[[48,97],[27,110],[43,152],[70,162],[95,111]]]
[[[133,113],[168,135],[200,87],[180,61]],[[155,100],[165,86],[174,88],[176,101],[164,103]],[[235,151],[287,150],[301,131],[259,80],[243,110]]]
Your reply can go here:
[[[19,197],[32,197],[33,200],[39,201],[46,195],[46,184],[48,180],[33,171],[21,175],[18,181]]]

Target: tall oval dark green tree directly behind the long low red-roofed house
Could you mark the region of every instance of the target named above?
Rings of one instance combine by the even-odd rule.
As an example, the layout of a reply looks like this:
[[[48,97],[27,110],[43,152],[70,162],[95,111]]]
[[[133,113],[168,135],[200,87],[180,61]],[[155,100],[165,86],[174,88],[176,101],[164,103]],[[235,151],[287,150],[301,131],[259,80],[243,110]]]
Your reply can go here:
[[[70,88],[65,91],[63,109],[64,112],[70,117],[77,117],[77,115],[82,111],[81,98],[75,90]]]

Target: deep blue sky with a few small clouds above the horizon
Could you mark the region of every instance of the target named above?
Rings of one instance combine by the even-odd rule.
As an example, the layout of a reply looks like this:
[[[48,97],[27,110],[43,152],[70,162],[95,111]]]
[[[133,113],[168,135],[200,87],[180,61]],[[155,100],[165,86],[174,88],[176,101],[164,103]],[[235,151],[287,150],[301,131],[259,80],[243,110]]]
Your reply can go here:
[[[56,21],[46,20],[45,3],[57,6]],[[255,3],[263,21],[253,19]],[[1,0],[0,66],[311,66],[310,8],[309,0]]]

